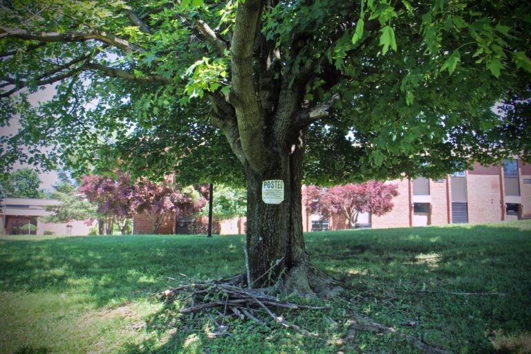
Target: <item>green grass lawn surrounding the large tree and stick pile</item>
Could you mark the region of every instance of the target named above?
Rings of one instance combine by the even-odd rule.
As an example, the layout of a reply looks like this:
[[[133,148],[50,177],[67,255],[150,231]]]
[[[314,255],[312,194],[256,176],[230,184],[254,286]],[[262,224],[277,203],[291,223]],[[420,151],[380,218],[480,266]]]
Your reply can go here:
[[[157,294],[187,277],[244,270],[242,236],[2,236],[0,353],[420,353],[371,317],[452,353],[531,352],[531,221],[306,235],[317,267],[342,281],[330,310],[283,311],[316,337],[178,317]],[[278,310],[280,313],[281,311]]]

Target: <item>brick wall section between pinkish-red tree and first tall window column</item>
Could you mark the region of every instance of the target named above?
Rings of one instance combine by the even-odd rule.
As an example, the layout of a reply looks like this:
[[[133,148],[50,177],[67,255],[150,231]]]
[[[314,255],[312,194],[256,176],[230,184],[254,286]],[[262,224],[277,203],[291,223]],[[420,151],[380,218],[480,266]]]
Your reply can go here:
[[[383,227],[406,227],[409,226],[411,198],[409,196],[409,180],[393,180],[389,183],[398,184],[398,196],[393,198],[395,206],[389,214],[372,216],[373,229]]]

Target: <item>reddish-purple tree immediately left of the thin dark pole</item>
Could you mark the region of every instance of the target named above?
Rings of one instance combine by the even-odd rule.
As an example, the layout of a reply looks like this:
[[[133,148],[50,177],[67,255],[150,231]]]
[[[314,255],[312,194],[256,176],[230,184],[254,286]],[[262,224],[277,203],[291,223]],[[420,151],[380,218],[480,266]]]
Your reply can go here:
[[[153,183],[143,179],[134,186],[132,208],[143,213],[151,221],[151,232],[158,234],[160,225],[171,214],[177,218],[191,216],[199,212],[206,199],[194,187],[181,187],[174,184],[173,178],[165,178],[162,183]]]

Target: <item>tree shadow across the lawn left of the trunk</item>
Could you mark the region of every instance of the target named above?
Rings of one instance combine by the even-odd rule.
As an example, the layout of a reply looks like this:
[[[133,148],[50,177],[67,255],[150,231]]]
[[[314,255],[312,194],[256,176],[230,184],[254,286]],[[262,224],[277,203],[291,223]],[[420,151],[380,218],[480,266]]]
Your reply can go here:
[[[0,241],[0,290],[81,291],[109,301],[139,299],[167,277],[218,277],[243,268],[243,239],[224,236],[97,236]],[[237,246],[237,247],[236,247]]]

